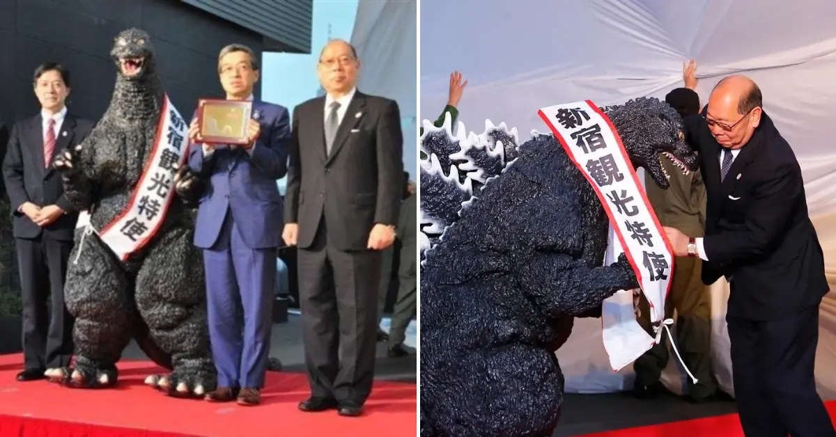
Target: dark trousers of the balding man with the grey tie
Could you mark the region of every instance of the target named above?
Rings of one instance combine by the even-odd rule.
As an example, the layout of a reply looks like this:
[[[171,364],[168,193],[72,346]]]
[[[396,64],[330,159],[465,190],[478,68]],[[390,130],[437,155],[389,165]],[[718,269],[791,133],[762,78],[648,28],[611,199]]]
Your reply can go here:
[[[337,249],[321,219],[298,272],[311,394],[363,404],[375,377],[380,252]]]

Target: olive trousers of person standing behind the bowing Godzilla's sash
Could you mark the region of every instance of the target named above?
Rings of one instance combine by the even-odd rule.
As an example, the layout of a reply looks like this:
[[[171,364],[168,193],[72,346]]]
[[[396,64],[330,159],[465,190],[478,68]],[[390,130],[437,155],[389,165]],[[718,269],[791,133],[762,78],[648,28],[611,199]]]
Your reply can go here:
[[[699,258],[676,257],[674,262],[674,277],[665,301],[665,318],[672,318],[676,311],[676,348],[697,379],[696,384],[688,379],[688,394],[703,398],[717,390],[711,372],[711,295],[701,280]],[[652,334],[650,307],[644,298],[640,312],[640,325]],[[635,360],[633,369],[637,385],[652,385],[659,381],[670,358],[667,340],[667,334],[663,334],[659,344]]]

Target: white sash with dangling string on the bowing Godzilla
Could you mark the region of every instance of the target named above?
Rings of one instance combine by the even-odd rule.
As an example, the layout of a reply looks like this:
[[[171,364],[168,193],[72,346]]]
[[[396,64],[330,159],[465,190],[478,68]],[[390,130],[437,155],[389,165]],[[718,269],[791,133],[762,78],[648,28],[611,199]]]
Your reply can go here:
[[[655,338],[645,333],[635,319],[632,291],[616,292],[604,301],[604,348],[609,363],[619,371],[659,343],[662,327],[672,323],[662,319],[673,273],[673,251],[609,118],[590,100],[549,106],[538,114],[589,180],[609,216],[615,234],[611,241],[614,259],[609,262],[626,249],[641,291],[650,302],[650,320],[659,323]]]

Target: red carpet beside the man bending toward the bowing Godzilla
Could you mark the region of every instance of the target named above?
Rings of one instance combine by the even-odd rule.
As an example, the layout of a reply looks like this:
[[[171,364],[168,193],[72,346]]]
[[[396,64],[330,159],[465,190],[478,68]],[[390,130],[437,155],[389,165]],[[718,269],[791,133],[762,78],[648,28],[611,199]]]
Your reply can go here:
[[[836,418],[836,401],[825,403],[831,419]],[[605,433],[585,434],[583,437],[744,437],[737,414],[682,420],[639,428],[619,429]]]

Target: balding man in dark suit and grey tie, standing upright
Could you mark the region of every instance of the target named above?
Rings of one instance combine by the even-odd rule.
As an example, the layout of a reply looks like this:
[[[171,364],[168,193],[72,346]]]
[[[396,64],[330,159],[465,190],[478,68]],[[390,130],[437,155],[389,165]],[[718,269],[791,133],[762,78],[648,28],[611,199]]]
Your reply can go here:
[[[329,42],[317,70],[327,95],[293,109],[283,231],[298,245],[311,386],[299,409],[357,416],[375,373],[380,251],[395,241],[403,135],[395,101],[356,89],[349,43]]]

